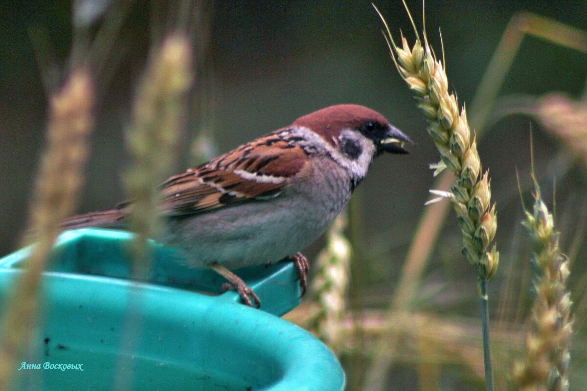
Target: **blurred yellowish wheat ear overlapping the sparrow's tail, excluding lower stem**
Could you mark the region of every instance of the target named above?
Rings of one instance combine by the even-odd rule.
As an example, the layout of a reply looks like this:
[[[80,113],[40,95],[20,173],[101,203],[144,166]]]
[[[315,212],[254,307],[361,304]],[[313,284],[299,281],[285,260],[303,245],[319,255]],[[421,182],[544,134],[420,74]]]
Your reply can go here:
[[[129,198],[134,200],[130,227],[138,234],[134,255],[139,262],[146,257],[147,238],[160,233],[157,186],[175,160],[191,79],[190,42],[181,35],[171,35],[151,56],[134,102],[133,123],[127,134],[133,165],[124,179]]]

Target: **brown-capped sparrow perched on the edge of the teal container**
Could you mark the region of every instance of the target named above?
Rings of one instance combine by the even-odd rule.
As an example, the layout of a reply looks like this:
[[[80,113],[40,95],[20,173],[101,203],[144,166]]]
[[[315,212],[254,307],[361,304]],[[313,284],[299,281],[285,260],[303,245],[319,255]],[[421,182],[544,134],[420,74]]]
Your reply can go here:
[[[231,270],[294,261],[303,295],[309,264],[299,251],[342,212],[373,159],[406,154],[406,143],[409,137],[364,106],[304,115],[167,179],[159,188],[160,242],[180,251],[187,266],[221,274],[251,307],[261,305],[259,297]],[[70,217],[62,227],[124,226],[132,209],[122,202]]]

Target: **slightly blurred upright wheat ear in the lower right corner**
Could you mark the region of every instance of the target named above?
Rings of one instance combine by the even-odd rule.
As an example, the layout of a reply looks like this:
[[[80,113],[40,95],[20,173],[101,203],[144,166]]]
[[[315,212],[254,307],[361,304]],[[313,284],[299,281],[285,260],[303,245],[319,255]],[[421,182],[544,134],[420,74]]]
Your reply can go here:
[[[536,180],[534,188],[534,208],[525,211],[522,223],[532,239],[531,262],[536,273],[532,326],[526,338],[525,359],[514,366],[514,377],[523,391],[566,391],[573,325],[571,294],[566,289],[569,266]]]

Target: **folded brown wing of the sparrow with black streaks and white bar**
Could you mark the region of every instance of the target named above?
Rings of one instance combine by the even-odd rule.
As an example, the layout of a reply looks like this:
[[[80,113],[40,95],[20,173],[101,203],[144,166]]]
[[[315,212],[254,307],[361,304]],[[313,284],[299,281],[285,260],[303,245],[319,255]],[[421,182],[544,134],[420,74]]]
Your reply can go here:
[[[190,215],[278,196],[311,165],[295,141],[277,131],[172,176],[161,185],[159,213]]]

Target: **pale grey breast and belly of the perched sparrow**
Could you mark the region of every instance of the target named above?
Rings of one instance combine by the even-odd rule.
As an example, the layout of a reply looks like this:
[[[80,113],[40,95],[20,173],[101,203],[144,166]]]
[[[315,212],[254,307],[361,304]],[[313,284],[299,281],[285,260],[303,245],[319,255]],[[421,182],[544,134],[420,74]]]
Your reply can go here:
[[[238,203],[199,215],[170,217],[163,242],[191,267],[271,264],[320,236],[350,199],[349,176],[327,156],[315,156],[310,179],[275,198]]]

